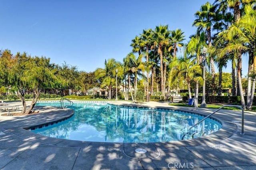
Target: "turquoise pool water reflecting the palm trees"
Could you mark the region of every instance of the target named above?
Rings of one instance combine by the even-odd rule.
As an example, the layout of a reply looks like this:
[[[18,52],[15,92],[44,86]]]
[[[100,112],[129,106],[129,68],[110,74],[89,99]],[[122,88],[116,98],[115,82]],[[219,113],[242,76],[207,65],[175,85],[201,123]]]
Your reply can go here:
[[[42,102],[40,106],[57,106],[60,102]],[[192,135],[188,129],[204,117],[161,109],[115,107],[102,102],[79,102],[68,120],[32,130],[54,138],[92,142],[167,142],[196,138],[216,132],[221,124],[206,119]]]

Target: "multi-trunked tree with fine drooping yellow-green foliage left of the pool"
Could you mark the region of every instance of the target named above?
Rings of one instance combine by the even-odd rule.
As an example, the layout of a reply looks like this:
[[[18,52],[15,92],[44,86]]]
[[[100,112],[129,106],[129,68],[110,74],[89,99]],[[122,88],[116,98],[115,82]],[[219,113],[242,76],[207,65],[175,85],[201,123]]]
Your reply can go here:
[[[60,77],[54,75],[50,68],[50,58],[31,57],[25,52],[19,52],[12,57],[13,64],[8,68],[8,86],[11,87],[22,102],[22,114],[29,114],[36,105],[42,89],[60,87]],[[32,93],[33,98],[29,109],[26,107],[24,95]]]

